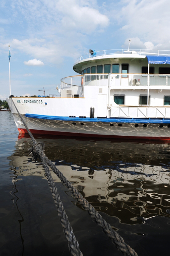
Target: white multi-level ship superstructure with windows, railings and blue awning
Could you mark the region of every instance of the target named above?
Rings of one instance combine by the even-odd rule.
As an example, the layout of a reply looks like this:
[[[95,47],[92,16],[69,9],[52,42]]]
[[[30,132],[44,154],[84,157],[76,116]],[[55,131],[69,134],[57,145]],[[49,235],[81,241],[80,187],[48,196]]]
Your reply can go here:
[[[62,98],[88,99],[100,116],[170,118],[170,51],[90,50],[73,70]]]

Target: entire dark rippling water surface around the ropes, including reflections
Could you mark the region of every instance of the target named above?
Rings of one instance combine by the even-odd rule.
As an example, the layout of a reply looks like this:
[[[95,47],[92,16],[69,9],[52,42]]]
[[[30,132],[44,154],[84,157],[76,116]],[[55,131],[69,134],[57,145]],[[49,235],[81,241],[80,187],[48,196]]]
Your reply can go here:
[[[169,143],[36,137],[139,256],[169,255]],[[42,165],[28,157],[30,145],[11,113],[0,112],[0,256],[69,256]],[[53,177],[83,255],[122,255]]]

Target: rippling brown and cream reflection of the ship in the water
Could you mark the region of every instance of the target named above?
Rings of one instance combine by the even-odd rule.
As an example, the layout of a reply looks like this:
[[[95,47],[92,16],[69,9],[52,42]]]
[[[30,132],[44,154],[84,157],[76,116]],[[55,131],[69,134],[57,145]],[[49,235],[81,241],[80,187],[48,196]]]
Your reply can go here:
[[[45,143],[48,158],[97,211],[130,225],[145,223],[154,216],[170,217],[168,143],[65,137],[37,140]],[[10,165],[16,167],[17,175],[46,179],[42,164],[26,157],[30,146],[26,135],[17,140]],[[60,182],[56,175],[52,176]]]

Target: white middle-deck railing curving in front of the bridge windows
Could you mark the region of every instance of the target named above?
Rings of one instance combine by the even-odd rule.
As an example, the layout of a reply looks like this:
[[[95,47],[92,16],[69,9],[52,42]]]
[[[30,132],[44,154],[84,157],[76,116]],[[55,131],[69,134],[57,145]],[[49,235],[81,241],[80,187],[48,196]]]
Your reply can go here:
[[[109,81],[110,76],[110,81]],[[68,76],[61,79],[61,88],[73,86],[170,86],[170,75],[167,74],[84,74]]]

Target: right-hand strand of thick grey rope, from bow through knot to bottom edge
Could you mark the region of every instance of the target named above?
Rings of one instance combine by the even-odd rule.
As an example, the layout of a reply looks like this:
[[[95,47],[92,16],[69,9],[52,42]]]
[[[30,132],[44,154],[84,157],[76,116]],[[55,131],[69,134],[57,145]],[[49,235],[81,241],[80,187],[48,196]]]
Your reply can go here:
[[[15,106],[15,104],[14,104],[14,106]],[[15,106],[15,108],[17,110],[16,106]],[[97,212],[94,209],[94,207],[91,204],[89,204],[89,202],[85,198],[83,198],[82,194],[71,184],[70,181],[67,180],[67,178],[62,174],[62,172],[60,172],[56,168],[56,166],[51,162],[51,160],[49,160],[48,157],[46,157],[46,155],[44,153],[44,149],[43,149],[43,151],[40,149],[39,145],[41,145],[41,143],[37,143],[36,142],[36,140],[34,139],[33,135],[29,131],[26,123],[24,122],[24,120],[23,120],[23,118],[20,115],[18,110],[17,110],[17,112],[18,112],[18,114],[20,116],[20,119],[22,120],[23,124],[25,125],[25,127],[26,127],[26,129],[28,131],[28,134],[30,135],[30,137],[31,137],[31,139],[33,141],[32,156],[33,156],[34,160],[37,160],[37,158],[40,156],[40,158],[42,160],[42,163],[48,163],[48,165],[51,167],[53,172],[59,177],[61,182],[64,183],[64,185],[72,193],[73,197],[75,199],[77,199],[79,204],[81,204],[82,207],[86,211],[88,211],[88,213],[91,216],[91,218],[93,218],[96,221],[97,225],[102,228],[104,233],[111,239],[112,243],[116,245],[116,248],[118,250],[120,250],[123,253],[124,256],[137,256],[137,253],[128,244],[125,243],[125,241],[122,238],[122,236],[120,236],[115,230],[113,230],[111,228],[111,225],[108,224],[102,218],[102,216],[99,214],[99,212]],[[42,147],[42,145],[41,145],[41,147]]]

